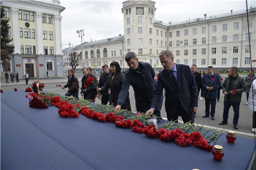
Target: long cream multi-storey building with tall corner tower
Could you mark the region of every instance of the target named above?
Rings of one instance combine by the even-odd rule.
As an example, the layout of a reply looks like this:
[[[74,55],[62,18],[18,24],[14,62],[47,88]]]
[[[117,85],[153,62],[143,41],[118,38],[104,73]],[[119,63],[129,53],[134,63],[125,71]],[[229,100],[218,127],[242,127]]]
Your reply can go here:
[[[177,64],[196,64],[204,70],[213,66],[222,71],[233,66],[248,71],[251,51],[252,67],[256,68],[256,8],[248,9],[248,26],[246,9],[214,16],[202,14],[204,17],[168,24],[155,20],[156,9],[153,0],[126,0],[122,8],[124,35],[83,42],[73,50],[80,53],[83,47],[84,66],[93,68],[96,64],[96,73],[112,61],[128,69],[124,56],[130,51],[159,71],[162,65],[158,54],[166,49],[173,52]]]

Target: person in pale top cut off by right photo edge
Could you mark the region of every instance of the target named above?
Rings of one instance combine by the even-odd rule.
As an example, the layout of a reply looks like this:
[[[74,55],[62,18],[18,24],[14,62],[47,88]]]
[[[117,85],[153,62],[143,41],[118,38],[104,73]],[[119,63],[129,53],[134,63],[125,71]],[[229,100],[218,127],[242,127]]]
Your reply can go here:
[[[256,79],[251,84],[248,96],[248,109],[253,111],[253,128],[252,132],[256,132]]]

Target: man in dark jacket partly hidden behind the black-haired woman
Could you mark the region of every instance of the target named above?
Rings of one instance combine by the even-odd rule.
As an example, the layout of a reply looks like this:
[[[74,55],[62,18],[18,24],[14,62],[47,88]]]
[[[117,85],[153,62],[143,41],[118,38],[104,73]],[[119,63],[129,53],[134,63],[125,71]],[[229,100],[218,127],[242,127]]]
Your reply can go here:
[[[101,88],[103,85],[105,85],[105,83],[108,79],[108,76],[110,74],[110,69],[107,64],[104,64],[102,66],[102,70],[103,70],[103,74],[101,74],[101,76],[100,76],[100,81],[99,81],[99,85],[98,85],[99,88]],[[110,97],[109,92],[104,91],[104,92],[101,92],[101,94],[102,94],[101,104],[108,104],[109,97]]]

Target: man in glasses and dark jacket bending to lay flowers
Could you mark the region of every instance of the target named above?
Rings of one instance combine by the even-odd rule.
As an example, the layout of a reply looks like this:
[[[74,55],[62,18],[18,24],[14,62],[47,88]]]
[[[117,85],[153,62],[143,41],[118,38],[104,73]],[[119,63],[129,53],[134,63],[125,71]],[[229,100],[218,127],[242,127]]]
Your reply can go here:
[[[125,73],[124,83],[119,93],[114,112],[120,111],[129,91],[129,86],[131,85],[134,90],[137,111],[146,113],[146,110],[150,109],[152,97],[155,92],[153,83],[155,71],[149,63],[139,62],[134,52],[128,52],[125,56],[125,60],[129,69]],[[157,107],[156,110],[159,110],[159,107]],[[160,115],[157,114],[157,116]]]

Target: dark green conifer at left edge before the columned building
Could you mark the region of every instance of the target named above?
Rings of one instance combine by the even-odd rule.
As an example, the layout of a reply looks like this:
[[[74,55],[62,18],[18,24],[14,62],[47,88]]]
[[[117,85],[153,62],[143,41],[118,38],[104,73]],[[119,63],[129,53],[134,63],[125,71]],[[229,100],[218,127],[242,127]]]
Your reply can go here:
[[[14,45],[9,45],[9,42],[13,40],[13,38],[10,38],[8,33],[9,33],[9,19],[4,18],[5,16],[5,11],[4,8],[1,7],[1,61],[2,65],[8,65],[7,61],[9,61],[11,58],[9,57],[9,54],[12,54],[14,52]]]

